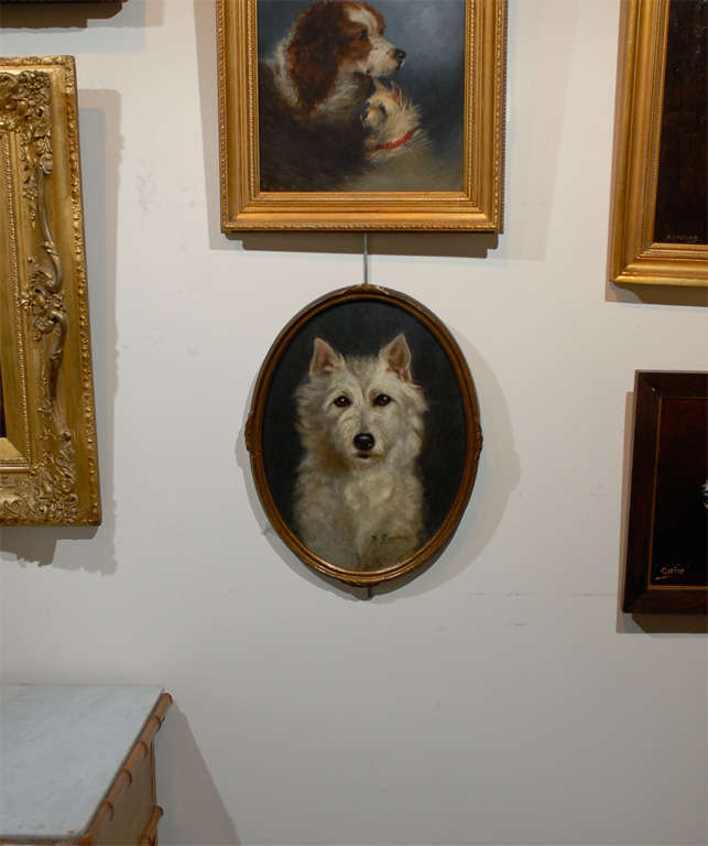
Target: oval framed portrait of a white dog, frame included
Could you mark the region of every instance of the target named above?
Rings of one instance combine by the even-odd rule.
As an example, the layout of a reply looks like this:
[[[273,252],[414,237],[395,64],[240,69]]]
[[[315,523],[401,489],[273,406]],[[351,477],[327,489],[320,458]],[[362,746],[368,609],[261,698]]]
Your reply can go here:
[[[440,552],[469,499],[481,448],[472,378],[420,303],[336,292],[269,352],[247,444],[291,549],[351,584],[390,579]]]

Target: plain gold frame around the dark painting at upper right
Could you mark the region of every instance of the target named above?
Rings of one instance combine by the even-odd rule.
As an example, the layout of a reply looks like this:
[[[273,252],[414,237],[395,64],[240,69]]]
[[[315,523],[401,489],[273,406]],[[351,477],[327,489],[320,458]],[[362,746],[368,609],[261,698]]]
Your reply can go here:
[[[654,240],[669,0],[623,0],[614,137],[610,278],[708,285],[708,245]]]

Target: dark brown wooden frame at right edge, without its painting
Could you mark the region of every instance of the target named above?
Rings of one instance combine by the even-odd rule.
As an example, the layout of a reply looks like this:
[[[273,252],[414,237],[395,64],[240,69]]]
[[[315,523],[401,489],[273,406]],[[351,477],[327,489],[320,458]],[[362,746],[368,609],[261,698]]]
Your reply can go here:
[[[708,587],[652,584],[655,497],[662,402],[708,401],[708,373],[638,371],[634,379],[634,446],[622,610],[705,614]]]

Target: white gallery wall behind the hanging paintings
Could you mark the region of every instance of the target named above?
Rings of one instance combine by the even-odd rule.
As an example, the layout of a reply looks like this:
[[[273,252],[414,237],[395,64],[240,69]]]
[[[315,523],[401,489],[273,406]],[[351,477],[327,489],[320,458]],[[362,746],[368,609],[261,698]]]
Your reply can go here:
[[[634,370],[708,365],[704,308],[606,285],[618,3],[511,3],[495,248],[370,239],[484,429],[450,546],[370,601],[274,536],[243,444],[271,341],[361,281],[361,239],[221,236],[214,0],[92,9],[2,11],[0,52],[77,57],[105,507],[2,531],[3,677],[174,694],[164,846],[705,843],[706,638],[618,615]]]

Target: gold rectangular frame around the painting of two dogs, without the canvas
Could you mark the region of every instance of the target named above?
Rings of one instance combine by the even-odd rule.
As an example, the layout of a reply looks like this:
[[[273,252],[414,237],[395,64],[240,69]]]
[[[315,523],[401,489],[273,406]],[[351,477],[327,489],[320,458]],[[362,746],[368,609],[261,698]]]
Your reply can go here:
[[[257,0],[217,0],[221,229],[501,231],[505,21],[466,0],[462,191],[262,192]]]

